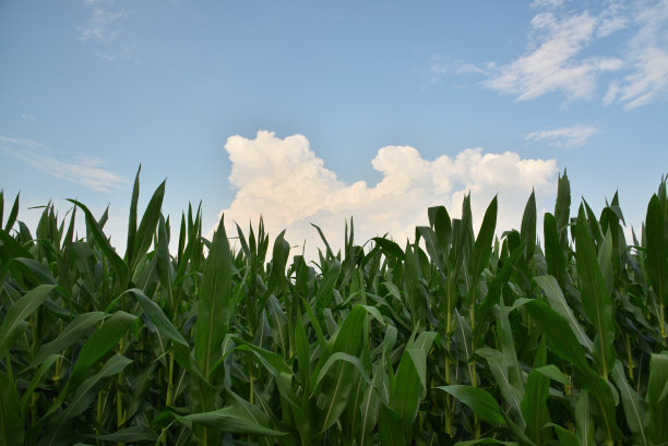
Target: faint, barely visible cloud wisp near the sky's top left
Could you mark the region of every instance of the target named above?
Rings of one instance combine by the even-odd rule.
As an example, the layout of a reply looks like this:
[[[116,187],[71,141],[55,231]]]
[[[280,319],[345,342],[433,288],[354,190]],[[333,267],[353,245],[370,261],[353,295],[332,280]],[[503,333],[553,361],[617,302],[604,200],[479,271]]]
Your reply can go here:
[[[85,25],[76,26],[79,39],[105,60],[134,59],[135,44],[126,28],[130,11],[114,0],[84,0],[83,5],[91,14]]]

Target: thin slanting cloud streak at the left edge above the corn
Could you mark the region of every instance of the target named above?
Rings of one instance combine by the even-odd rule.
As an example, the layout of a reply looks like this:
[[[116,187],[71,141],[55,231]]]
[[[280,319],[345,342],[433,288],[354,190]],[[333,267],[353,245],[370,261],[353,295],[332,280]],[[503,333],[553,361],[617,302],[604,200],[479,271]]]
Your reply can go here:
[[[96,158],[83,158],[77,162],[65,162],[49,156],[48,146],[33,140],[0,136],[0,149],[27,162],[34,169],[61,180],[67,180],[100,192],[118,189],[127,180],[103,168]]]

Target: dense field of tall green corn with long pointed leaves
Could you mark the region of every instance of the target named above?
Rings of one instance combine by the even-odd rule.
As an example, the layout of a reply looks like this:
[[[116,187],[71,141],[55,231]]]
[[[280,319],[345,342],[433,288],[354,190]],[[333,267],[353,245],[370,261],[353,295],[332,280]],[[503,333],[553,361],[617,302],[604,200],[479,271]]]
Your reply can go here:
[[[533,194],[500,239],[466,197],[317,262],[164,192],[139,213],[138,173],[122,257],[106,214],[0,195],[0,445],[668,444],[665,180],[640,240],[564,173],[538,232]]]

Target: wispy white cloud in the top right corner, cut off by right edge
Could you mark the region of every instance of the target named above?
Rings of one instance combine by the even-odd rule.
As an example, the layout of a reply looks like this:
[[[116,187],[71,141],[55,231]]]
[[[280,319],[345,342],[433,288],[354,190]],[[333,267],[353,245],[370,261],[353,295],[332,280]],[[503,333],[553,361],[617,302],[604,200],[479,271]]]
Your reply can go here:
[[[668,0],[643,2],[634,24],[627,55],[632,72],[610,84],[606,105],[617,100],[632,109],[668,95]]]

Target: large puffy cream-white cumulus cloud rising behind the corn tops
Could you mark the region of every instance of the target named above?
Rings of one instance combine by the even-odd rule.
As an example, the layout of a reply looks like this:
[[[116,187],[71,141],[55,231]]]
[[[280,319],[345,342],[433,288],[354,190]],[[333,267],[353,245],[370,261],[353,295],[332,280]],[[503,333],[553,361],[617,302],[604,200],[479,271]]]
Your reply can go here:
[[[467,192],[476,225],[498,194],[499,228],[517,227],[532,188],[551,194],[557,172],[553,159],[525,159],[514,152],[489,154],[477,147],[427,160],[415,147],[386,146],[371,161],[382,180],[370,185],[337,179],[302,135],[279,138],[260,131],[254,138],[229,137],[225,149],[231,161],[229,181],[237,190],[223,210],[228,231],[236,233],[232,221],[243,229],[249,221],[255,226],[262,214],[273,236],[287,229],[294,245],[306,241],[311,258],[321,246],[311,222],[333,245],[343,242],[344,221],[351,216],[358,243],[384,233],[403,243],[416,225],[428,222],[429,206],[445,205],[458,216]]]

